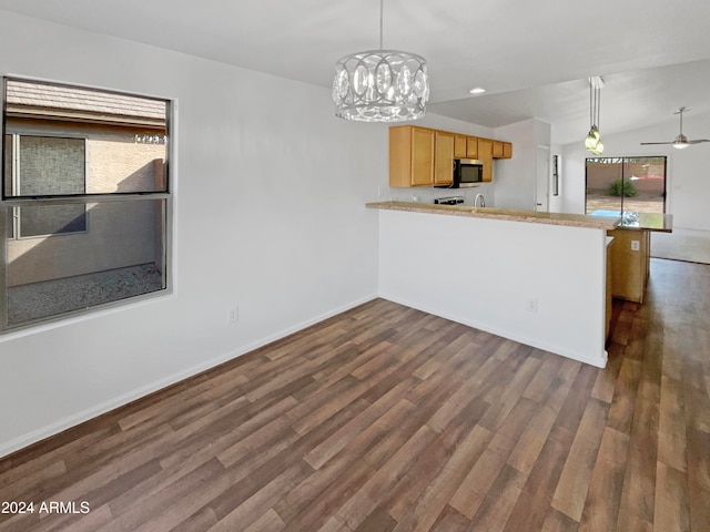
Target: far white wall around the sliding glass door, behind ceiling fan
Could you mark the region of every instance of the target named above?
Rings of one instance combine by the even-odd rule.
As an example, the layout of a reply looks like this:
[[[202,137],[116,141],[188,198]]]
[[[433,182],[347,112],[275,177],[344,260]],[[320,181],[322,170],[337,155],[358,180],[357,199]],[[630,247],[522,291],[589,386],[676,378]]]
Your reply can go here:
[[[678,131],[678,117],[673,117],[651,127],[604,135],[604,156],[668,156],[666,209],[673,215],[673,226],[710,229],[710,143],[684,150],[670,145],[640,145],[641,142],[672,141]],[[710,113],[683,115],[683,133],[688,139],[710,139]],[[581,214],[585,212],[585,160],[590,154],[584,149],[581,136],[579,142],[562,150],[562,208],[567,213]]]

